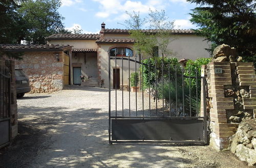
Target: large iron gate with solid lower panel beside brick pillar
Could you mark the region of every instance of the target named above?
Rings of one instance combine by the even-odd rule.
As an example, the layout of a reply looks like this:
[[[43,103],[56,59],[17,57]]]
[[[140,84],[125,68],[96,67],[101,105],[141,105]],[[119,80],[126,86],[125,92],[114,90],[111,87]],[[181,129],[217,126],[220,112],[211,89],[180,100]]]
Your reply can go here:
[[[177,66],[164,65],[159,68],[143,63],[137,57],[111,57],[109,53],[109,143],[207,143],[207,117],[200,117],[200,101],[204,101],[205,111],[205,78],[196,75],[184,75],[184,69]],[[116,83],[111,74],[120,68],[120,90],[114,89]],[[143,92],[143,68],[148,74],[154,73],[155,78],[147,82],[147,93]],[[166,70],[167,69],[167,70]],[[140,72],[141,90],[131,92],[130,72]],[[115,76],[116,77],[116,76]],[[160,79],[160,77],[162,79]],[[127,80],[126,80],[127,79]],[[126,80],[126,81],[124,81]],[[200,99],[201,83],[203,97]],[[166,87],[166,84],[167,87]],[[196,83],[196,91],[191,90],[191,83]],[[170,83],[173,83],[171,86]],[[124,91],[124,88],[127,91]],[[188,88],[185,91],[185,86]],[[168,104],[163,99],[164,87],[167,90]],[[171,91],[171,89],[175,90]],[[162,93],[161,93],[162,91]],[[188,93],[188,95],[185,94]],[[194,96],[192,96],[194,92]],[[160,99],[159,95],[162,95]],[[166,97],[166,96],[165,96]],[[171,98],[174,100],[171,102]],[[176,100],[175,100],[176,98]],[[178,101],[180,100],[180,101]],[[167,104],[167,105],[166,105]],[[193,106],[194,104],[194,106]],[[196,107],[195,107],[196,104]]]

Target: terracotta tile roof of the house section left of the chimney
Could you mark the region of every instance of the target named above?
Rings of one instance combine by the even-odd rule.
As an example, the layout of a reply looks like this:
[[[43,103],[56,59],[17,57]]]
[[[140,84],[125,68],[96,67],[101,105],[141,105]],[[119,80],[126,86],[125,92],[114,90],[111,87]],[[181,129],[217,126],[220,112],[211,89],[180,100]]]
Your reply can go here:
[[[99,34],[53,34],[47,37],[47,40],[96,40]]]

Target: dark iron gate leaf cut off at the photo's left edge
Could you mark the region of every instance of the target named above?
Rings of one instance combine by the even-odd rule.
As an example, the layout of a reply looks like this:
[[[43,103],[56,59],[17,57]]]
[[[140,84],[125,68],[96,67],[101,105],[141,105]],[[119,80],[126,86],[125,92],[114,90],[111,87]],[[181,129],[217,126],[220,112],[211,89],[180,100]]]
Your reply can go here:
[[[9,144],[11,139],[11,75],[0,71],[0,148]]]

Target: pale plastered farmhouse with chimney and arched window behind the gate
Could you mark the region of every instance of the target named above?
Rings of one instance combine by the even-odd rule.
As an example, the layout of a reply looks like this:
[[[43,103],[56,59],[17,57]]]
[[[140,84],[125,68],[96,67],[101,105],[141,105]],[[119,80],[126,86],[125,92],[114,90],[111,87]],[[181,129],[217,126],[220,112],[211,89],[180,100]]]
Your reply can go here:
[[[146,33],[157,33],[155,30],[143,30]],[[203,37],[197,36],[192,30],[173,30],[175,40],[168,48],[175,51],[178,59],[208,58],[210,54],[205,50],[209,43]],[[99,34],[53,34],[46,38],[48,44],[73,46],[70,55],[70,82],[71,85],[99,87],[100,82],[105,80],[103,87],[108,88],[108,50],[111,57],[117,49],[117,57],[124,51],[125,57],[135,59],[136,51],[133,49],[134,40],[129,35],[129,30],[105,29],[105,23],[101,24]],[[130,56],[129,56],[130,55]],[[160,54],[159,54],[160,55]],[[117,61],[117,74],[114,60],[111,60],[111,88],[113,87],[113,76],[117,75],[117,88],[120,88],[121,61]],[[124,62],[127,67],[127,62]],[[137,66],[138,67],[138,66]],[[134,69],[134,67],[131,67]],[[127,69],[127,68],[126,68]],[[123,73],[123,82],[128,84],[129,74]],[[81,77],[84,80],[81,80]]]

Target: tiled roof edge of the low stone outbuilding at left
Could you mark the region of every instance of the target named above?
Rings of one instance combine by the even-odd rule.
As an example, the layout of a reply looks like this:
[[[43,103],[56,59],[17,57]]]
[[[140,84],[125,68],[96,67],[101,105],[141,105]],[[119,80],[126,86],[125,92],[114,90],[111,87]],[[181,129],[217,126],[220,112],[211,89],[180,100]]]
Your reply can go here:
[[[71,48],[70,45],[53,45],[53,44],[0,44],[0,48],[4,50],[25,50],[25,49],[63,49]]]

